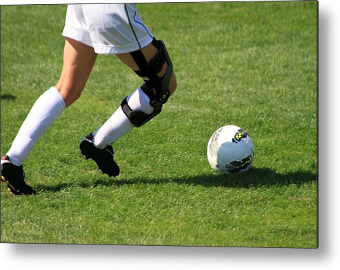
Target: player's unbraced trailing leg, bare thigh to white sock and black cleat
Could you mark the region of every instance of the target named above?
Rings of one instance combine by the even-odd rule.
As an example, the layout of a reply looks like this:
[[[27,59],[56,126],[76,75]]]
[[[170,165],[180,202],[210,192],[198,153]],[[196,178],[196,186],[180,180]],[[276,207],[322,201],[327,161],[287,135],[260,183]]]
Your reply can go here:
[[[59,82],[37,99],[23,121],[10,150],[1,158],[1,180],[8,184],[12,193],[34,193],[23,180],[23,160],[63,110],[80,96],[96,57],[93,48],[66,39],[63,71]]]

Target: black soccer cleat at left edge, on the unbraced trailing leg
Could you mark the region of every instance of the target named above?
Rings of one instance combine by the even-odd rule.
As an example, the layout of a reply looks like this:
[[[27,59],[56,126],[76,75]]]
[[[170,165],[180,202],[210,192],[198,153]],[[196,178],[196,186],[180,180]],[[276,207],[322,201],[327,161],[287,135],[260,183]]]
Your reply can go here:
[[[1,181],[6,183],[12,194],[36,194],[37,192],[25,183],[23,165],[16,166],[8,156],[1,156]]]

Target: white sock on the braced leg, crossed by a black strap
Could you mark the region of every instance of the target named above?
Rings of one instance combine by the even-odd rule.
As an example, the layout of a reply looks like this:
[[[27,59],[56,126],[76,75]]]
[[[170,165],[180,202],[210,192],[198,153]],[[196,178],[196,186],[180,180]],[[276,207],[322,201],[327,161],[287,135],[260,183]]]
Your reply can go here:
[[[141,88],[132,92],[128,96],[127,101],[132,110],[141,110],[146,114],[151,114],[154,110],[150,105],[150,99]],[[108,121],[93,133],[93,144],[103,149],[117,141],[124,134],[130,132],[133,128],[134,125],[132,125],[123,110],[121,110],[121,106],[119,106],[116,112],[108,118]]]

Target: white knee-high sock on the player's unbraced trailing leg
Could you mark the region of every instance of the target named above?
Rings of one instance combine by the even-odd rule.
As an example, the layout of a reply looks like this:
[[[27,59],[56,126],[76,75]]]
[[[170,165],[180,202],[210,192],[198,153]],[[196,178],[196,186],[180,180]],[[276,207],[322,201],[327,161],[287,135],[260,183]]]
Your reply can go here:
[[[14,165],[23,163],[35,143],[65,109],[65,101],[54,87],[50,87],[35,101],[7,153]]]

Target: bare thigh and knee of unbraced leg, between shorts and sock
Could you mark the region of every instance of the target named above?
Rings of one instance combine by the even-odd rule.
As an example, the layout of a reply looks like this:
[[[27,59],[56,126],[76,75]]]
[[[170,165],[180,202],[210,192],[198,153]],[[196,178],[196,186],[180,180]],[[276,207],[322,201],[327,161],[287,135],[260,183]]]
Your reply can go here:
[[[54,87],[60,92],[66,106],[77,101],[92,71],[97,54],[93,48],[66,38],[63,51],[63,70]]]

